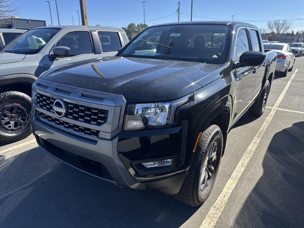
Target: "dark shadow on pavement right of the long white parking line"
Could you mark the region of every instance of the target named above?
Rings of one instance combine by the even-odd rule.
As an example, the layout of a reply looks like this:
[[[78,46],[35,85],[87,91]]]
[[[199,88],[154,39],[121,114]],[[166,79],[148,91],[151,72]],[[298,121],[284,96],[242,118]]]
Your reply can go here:
[[[304,223],[304,122],[274,135],[263,176],[233,227],[302,227]]]

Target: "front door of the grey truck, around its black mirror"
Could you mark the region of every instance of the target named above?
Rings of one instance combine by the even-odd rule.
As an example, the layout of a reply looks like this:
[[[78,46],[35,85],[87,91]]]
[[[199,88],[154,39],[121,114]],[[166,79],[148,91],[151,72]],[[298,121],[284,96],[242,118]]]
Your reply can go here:
[[[99,58],[100,54],[95,54],[96,50],[92,40],[93,34],[89,30],[68,30],[64,34],[60,34],[44,53],[44,70],[64,64],[72,64],[83,60]],[[60,57],[57,60],[52,60],[50,58],[50,55],[53,54],[52,50],[59,46],[69,47],[71,49],[71,54],[68,57]]]

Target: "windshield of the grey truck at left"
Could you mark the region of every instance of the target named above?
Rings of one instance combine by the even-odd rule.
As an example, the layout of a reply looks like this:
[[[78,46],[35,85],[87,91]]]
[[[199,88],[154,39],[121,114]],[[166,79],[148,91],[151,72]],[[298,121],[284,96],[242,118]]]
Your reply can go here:
[[[59,30],[56,28],[29,30],[6,45],[2,52],[36,54]]]

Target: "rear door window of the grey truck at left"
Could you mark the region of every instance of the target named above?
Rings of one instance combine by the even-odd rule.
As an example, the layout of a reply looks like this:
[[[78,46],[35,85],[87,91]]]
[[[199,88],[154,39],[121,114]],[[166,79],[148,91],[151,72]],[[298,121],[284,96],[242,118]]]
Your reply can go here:
[[[102,52],[117,52],[122,47],[117,32],[98,32]]]

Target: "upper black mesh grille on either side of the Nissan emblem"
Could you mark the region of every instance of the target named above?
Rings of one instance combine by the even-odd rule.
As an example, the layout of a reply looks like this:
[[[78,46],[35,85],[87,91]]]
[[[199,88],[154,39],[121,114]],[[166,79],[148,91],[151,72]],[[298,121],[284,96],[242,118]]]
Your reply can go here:
[[[37,93],[36,95],[37,106],[53,113],[53,104],[55,100],[55,98],[40,93]],[[71,102],[66,103],[67,113],[65,117],[67,118],[98,126],[107,122],[109,114],[108,110],[78,105]]]

